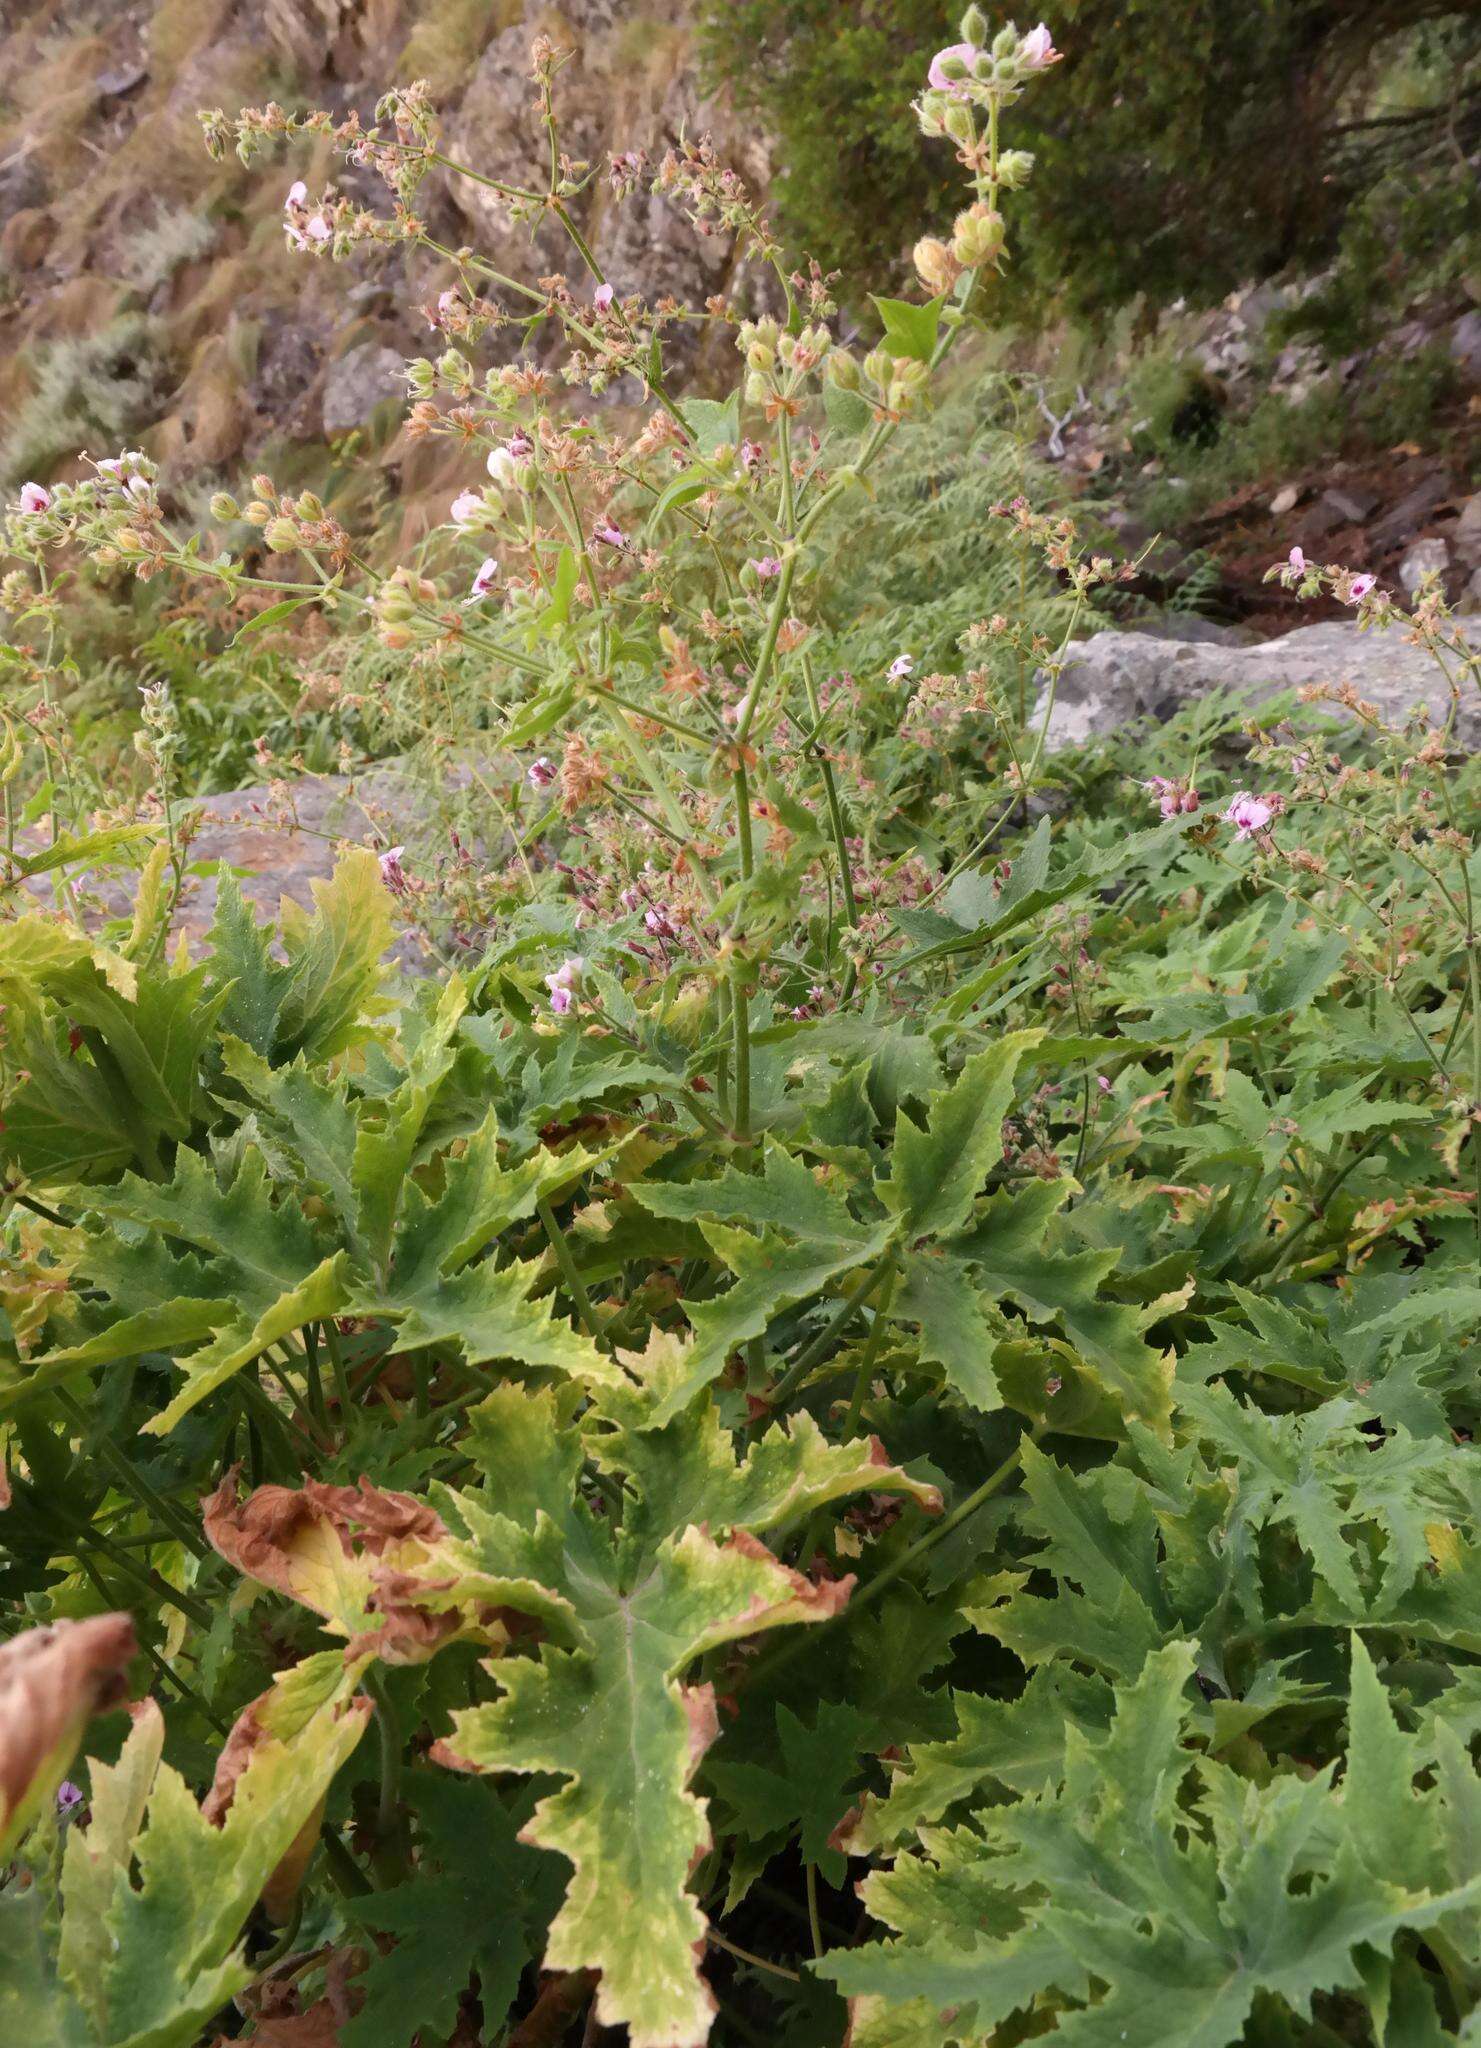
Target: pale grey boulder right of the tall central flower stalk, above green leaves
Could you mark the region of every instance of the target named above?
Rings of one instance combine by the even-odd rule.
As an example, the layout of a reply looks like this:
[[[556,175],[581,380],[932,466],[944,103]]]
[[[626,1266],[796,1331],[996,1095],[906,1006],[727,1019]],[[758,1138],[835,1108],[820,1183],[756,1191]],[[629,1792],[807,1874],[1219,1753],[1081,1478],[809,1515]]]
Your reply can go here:
[[[1166,721],[1198,696],[1243,696],[1252,707],[1303,684],[1352,684],[1387,719],[1426,705],[1436,721],[1450,713],[1450,692],[1422,647],[1399,631],[1360,633],[1354,621],[1297,627],[1258,647],[1188,645],[1143,633],[1096,633],[1065,664],[1049,719],[1049,752],[1104,739],[1137,719]],[[1034,719],[1047,711],[1041,686]],[[1481,745],[1481,700],[1465,700],[1456,737]]]

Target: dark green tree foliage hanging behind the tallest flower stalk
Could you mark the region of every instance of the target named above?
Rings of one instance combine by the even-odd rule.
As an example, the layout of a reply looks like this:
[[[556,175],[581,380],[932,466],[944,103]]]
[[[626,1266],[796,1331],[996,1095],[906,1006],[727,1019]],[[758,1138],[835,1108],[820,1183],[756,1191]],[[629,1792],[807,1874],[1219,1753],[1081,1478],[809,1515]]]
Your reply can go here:
[[[776,135],[787,227],[828,268],[877,276],[950,197],[946,166],[916,150],[905,100],[914,53],[950,39],[953,6],[869,0],[844,14],[834,0],[719,0],[705,53]],[[1020,123],[1045,201],[1016,266],[1030,291],[1080,307],[1139,293],[1209,303],[1329,256],[1354,203],[1346,299],[1383,297],[1395,250],[1432,236],[1475,264],[1473,10],[1069,0],[1061,16],[1063,78]]]

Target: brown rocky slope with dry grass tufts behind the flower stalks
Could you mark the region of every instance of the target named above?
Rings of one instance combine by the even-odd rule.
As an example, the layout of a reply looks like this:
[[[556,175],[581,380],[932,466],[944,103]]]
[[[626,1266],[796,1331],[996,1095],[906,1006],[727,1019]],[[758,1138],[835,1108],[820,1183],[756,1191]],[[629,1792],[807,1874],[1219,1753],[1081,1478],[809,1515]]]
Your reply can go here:
[[[561,74],[567,147],[649,156],[713,131],[754,182],[766,156],[701,92],[688,0],[10,0],[0,8],[0,485],[66,473],[82,449],[143,442],[176,483],[371,422],[416,522],[436,457],[395,446],[399,356],[428,346],[416,307],[447,279],[399,256],[350,266],[295,260],[283,190],[318,188],[328,152],[291,166],[205,156],[199,106],[277,98],[358,109],[391,82],[428,78],[449,150],[496,174],[543,162],[526,53],[537,31],[574,47]],[[383,205],[379,184],[342,188]],[[584,227],[625,291],[746,301],[723,236],[701,238],[658,201],[584,195]],[[428,180],[420,209],[451,246],[539,274],[496,195]],[[699,367],[703,373],[703,365]],[[315,457],[318,459],[318,457]]]

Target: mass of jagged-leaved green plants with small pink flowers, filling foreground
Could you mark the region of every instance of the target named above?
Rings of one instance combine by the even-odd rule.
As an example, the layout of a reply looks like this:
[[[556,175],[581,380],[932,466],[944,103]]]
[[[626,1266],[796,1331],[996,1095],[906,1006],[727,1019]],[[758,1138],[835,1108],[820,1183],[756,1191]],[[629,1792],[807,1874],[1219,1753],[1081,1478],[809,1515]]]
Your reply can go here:
[[[6,2040],[1477,2038],[1481,662],[1297,553],[1438,717],[1047,750],[1120,571],[1024,500],[981,561],[942,483],[950,422],[1016,463],[932,403],[1057,61],[961,37],[918,121],[971,199],[869,354],[690,145],[606,174],[776,256],[729,399],[580,238],[459,252],[440,553],[379,580],[270,477],[258,547],[180,537],[133,453],[8,516]],[[569,227],[555,88],[504,197]],[[395,217],[295,184],[305,260],[422,240],[426,96],[379,119]],[[516,317],[635,416],[479,371]],[[989,608],[922,596],[932,516]],[[70,725],[70,580],[123,573],[326,618],[481,844],[274,924],[215,877],[172,944],[188,717],[147,684],[113,807]]]

